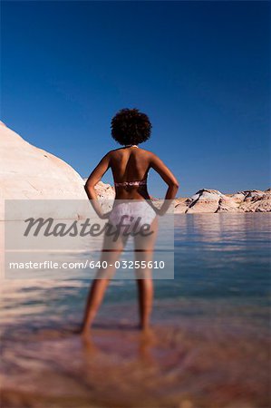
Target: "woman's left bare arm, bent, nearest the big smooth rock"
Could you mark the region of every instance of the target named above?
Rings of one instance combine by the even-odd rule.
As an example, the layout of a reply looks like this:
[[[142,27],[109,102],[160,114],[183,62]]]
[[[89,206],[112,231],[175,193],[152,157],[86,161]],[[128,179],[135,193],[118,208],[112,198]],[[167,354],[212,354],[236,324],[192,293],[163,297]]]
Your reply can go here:
[[[91,199],[92,207],[95,209],[99,217],[103,218],[101,206],[98,201],[97,193],[94,186],[102,179],[103,174],[111,167],[111,155],[107,153],[99,164],[92,171],[92,174],[85,183],[84,189],[89,199]]]

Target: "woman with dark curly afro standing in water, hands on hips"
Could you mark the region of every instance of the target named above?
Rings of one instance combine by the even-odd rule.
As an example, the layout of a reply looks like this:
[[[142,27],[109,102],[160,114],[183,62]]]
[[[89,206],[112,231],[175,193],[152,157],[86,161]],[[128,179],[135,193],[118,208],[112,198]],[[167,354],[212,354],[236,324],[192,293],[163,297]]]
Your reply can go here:
[[[138,109],[122,109],[111,120],[111,136],[121,144],[120,149],[109,151],[92,171],[85,184],[88,198],[92,206],[102,218],[109,218],[111,225],[117,226],[123,214],[140,219],[141,224],[150,223],[151,234],[144,238],[144,249],[141,238],[134,236],[135,259],[148,263],[152,258],[158,220],[156,215],[164,214],[179,189],[178,180],[168,167],[150,151],[139,148],[139,144],[150,138],[151,123],[145,113]],[[103,214],[95,192],[95,185],[102,179],[103,174],[111,168],[116,196],[110,214]],[[168,184],[168,190],[160,209],[156,209],[150,200],[147,189],[147,176],[150,169],[156,170],[160,177]],[[128,218],[130,219],[130,218]],[[114,262],[119,259],[126,244],[127,235],[122,234],[117,240],[105,235],[102,249],[102,261],[106,261],[106,270],[99,270],[92,282],[88,296],[85,314],[82,322],[82,335],[88,335],[94,317],[102,303],[106,287],[115,271]],[[138,248],[138,249],[137,249]],[[145,267],[137,269],[137,283],[139,289],[140,328],[147,329],[150,324],[150,312],[153,298],[153,283],[150,270]]]

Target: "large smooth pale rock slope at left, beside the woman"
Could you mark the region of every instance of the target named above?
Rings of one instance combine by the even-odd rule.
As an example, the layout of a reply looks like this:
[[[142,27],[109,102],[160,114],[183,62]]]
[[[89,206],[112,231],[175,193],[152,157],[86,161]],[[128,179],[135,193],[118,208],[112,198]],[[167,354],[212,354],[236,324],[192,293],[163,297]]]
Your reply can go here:
[[[97,189],[99,197],[102,197],[106,196],[107,193],[103,194],[103,191],[108,191],[109,187],[100,182]],[[111,196],[112,192],[111,189]],[[36,216],[35,211],[42,210],[43,217],[82,218],[89,206],[82,177],[71,166],[24,141],[0,122],[0,220],[5,219],[4,205],[8,205],[5,199],[41,200],[33,203],[33,217]],[[51,201],[46,204],[45,199],[65,201],[55,201],[53,205]],[[85,203],[78,206],[75,201],[70,204],[66,201],[74,199]],[[19,206],[11,217],[24,219]]]

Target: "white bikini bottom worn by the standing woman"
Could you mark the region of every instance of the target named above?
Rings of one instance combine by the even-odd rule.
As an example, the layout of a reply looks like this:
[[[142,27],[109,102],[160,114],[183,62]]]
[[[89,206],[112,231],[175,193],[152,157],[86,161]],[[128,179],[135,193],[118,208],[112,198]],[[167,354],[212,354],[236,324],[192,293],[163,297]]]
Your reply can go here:
[[[141,228],[144,224],[150,225],[155,217],[156,212],[147,200],[125,200],[114,204],[109,221],[115,227],[128,226],[123,228],[131,231],[133,228]]]

